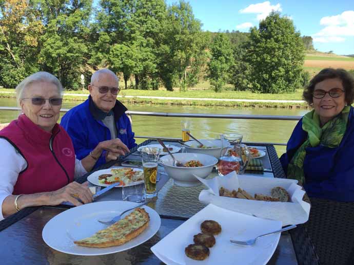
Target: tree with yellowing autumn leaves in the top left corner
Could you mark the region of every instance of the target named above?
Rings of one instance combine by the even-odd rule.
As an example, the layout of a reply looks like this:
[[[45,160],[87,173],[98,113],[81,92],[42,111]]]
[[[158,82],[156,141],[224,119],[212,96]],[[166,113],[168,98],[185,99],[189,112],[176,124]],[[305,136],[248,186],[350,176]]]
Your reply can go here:
[[[26,0],[0,1],[0,84],[15,87],[39,70],[37,54],[44,27]]]

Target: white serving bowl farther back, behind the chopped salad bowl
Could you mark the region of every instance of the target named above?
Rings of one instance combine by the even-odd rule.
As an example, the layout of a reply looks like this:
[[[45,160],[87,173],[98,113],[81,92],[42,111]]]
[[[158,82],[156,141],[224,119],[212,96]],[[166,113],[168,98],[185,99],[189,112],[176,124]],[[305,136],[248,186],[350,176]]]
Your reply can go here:
[[[222,148],[221,140],[201,139],[199,141],[205,146],[210,146],[211,148],[198,148],[197,146],[199,146],[199,143],[193,140],[185,143],[186,151],[191,153],[209,154],[210,156],[213,156],[215,158],[220,158],[220,151]],[[229,145],[230,143],[227,140],[224,140],[224,147],[227,147]]]

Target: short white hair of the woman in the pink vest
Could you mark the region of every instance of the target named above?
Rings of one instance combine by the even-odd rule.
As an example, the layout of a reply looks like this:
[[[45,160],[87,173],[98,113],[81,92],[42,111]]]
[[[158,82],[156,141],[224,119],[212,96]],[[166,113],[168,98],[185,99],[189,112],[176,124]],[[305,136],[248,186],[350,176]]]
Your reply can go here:
[[[16,86],[16,101],[18,106],[20,105],[19,102],[23,98],[24,90],[26,90],[30,84],[37,82],[48,82],[54,84],[57,87],[60,96],[63,96],[63,86],[55,76],[47,72],[37,72],[26,77]]]

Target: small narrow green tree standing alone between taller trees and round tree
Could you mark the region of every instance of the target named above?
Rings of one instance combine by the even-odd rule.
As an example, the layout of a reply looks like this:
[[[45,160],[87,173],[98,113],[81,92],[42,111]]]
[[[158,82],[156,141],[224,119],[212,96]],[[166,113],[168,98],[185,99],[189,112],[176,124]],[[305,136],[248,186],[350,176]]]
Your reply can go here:
[[[209,74],[211,85],[215,92],[221,92],[230,77],[230,67],[232,64],[232,49],[229,38],[219,33],[210,47],[211,58],[209,61]]]

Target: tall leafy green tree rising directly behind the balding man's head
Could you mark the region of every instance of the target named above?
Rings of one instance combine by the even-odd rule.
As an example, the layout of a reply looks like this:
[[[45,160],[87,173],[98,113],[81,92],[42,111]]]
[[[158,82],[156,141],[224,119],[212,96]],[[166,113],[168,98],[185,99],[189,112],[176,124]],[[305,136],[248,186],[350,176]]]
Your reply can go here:
[[[156,39],[166,15],[163,0],[101,1],[96,16],[97,50],[91,62],[106,64],[122,72],[127,80],[133,74],[135,87],[150,87],[156,76]]]

